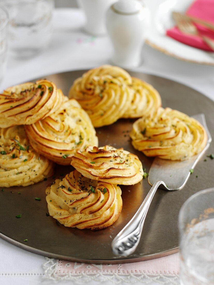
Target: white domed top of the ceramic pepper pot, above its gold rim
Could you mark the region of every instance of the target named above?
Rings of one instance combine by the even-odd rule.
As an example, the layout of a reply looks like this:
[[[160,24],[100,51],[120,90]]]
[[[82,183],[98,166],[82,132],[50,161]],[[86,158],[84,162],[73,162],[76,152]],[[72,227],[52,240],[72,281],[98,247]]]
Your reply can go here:
[[[115,12],[120,14],[134,14],[142,8],[142,5],[137,0],[120,0],[112,7]]]

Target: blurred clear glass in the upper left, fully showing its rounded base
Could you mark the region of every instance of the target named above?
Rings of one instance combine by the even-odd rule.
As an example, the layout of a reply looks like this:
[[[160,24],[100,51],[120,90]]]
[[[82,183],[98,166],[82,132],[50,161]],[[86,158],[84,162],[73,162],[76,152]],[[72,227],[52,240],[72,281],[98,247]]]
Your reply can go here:
[[[0,0],[9,12],[9,51],[29,58],[44,49],[52,35],[54,0]]]

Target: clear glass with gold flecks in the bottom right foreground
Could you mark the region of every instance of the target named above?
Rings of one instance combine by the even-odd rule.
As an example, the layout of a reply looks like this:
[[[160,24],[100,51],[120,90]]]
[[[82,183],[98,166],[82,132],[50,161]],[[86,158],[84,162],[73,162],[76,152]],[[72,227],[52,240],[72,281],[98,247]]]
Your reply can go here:
[[[181,284],[214,285],[214,188],[184,203],[179,229]]]

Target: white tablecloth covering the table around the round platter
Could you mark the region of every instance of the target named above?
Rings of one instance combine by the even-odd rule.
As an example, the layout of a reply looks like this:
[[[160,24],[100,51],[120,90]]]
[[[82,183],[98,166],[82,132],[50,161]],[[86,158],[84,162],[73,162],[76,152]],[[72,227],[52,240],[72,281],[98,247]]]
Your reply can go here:
[[[81,27],[84,21],[83,13],[79,9],[56,9],[54,34],[49,47],[32,59],[9,58],[1,89],[52,73],[108,63],[112,53],[109,38],[95,38],[83,33]],[[136,71],[176,80],[214,100],[214,67],[179,61],[148,46],[144,46],[142,56],[143,64],[136,68]],[[43,280],[42,265],[46,261],[44,257],[19,249],[2,239],[0,239],[0,256],[1,285],[53,284],[52,280]]]

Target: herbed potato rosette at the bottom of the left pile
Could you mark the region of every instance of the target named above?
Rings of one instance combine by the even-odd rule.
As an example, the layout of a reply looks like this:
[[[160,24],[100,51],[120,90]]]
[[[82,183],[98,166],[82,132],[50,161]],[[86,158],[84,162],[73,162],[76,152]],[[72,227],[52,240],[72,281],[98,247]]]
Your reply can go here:
[[[53,163],[34,151],[23,126],[0,129],[0,186],[28,186],[53,173]]]

